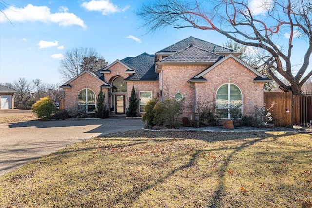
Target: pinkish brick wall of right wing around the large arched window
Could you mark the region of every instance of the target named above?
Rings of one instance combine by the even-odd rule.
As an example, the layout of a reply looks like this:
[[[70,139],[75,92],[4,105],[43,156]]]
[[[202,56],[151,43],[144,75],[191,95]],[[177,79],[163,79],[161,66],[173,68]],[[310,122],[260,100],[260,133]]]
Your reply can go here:
[[[187,81],[207,67],[205,65],[163,66],[164,98],[167,98],[167,95],[169,95],[169,98],[172,98],[176,93],[182,93],[185,96],[186,107],[183,116],[191,118],[193,115],[194,89],[189,86]],[[237,85],[242,91],[244,115],[252,113],[254,106],[263,105],[264,83],[254,83],[254,78],[257,75],[233,58],[225,60],[203,77],[207,79],[206,82],[192,84],[196,87],[196,107],[199,107],[198,102],[215,103],[218,88],[229,82]]]

